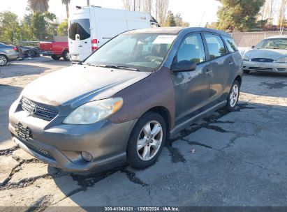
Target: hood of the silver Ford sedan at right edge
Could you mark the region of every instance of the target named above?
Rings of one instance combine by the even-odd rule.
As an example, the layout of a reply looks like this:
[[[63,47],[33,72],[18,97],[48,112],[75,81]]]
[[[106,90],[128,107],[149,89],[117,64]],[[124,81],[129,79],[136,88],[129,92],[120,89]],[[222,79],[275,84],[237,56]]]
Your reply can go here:
[[[249,59],[253,58],[267,58],[267,59],[273,59],[277,60],[282,57],[287,56],[287,50],[263,50],[263,49],[258,49],[258,50],[250,50],[245,53],[246,56],[249,57]]]

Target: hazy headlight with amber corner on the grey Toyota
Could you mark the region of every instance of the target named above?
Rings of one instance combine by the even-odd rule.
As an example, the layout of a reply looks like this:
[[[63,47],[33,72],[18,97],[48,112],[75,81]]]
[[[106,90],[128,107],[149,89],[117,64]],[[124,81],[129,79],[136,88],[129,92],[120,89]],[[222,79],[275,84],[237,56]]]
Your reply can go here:
[[[108,98],[105,100],[98,100],[90,103],[86,103],[66,117],[63,123],[71,124],[89,124],[95,123],[110,114],[117,112],[123,105],[122,98]]]

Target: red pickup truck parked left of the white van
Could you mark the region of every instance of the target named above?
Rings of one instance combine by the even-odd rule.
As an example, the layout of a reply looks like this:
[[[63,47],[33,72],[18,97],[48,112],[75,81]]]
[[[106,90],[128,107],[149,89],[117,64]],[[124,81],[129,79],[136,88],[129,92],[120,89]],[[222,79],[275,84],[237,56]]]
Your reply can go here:
[[[44,56],[51,56],[54,60],[59,60],[61,57],[65,61],[70,60],[68,51],[68,42],[45,41],[40,42],[40,50]]]

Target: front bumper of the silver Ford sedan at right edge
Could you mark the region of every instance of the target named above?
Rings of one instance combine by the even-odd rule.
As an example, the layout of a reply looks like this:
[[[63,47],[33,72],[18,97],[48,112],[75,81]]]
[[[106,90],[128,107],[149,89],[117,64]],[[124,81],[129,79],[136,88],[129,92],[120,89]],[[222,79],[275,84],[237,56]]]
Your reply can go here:
[[[287,63],[260,63],[244,61],[243,69],[254,70],[258,72],[287,73]]]

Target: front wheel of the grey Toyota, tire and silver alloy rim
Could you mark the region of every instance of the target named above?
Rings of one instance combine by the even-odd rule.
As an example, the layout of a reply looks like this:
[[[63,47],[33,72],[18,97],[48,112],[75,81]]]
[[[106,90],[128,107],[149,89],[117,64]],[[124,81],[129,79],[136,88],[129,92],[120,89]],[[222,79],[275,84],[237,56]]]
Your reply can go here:
[[[152,134],[153,130],[157,133]],[[128,139],[126,147],[128,163],[138,169],[154,164],[165,145],[165,138],[166,123],[163,117],[156,112],[144,114],[138,119]]]

